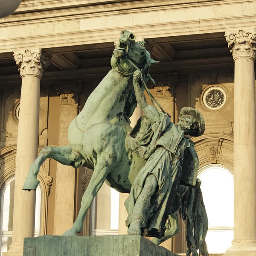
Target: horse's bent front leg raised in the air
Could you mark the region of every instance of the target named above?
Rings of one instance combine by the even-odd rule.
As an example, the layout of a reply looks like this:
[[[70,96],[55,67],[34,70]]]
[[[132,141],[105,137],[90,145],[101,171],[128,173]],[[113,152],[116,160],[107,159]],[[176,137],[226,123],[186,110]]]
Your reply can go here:
[[[47,158],[52,158],[61,164],[71,166],[81,166],[84,163],[84,159],[81,155],[73,151],[70,146],[45,147],[41,150],[34,163],[32,163],[32,166],[30,166],[29,174],[26,177],[23,190],[36,190],[39,184],[39,180],[37,180],[36,176],[38,175],[40,166]],[[81,163],[81,165],[78,162]]]

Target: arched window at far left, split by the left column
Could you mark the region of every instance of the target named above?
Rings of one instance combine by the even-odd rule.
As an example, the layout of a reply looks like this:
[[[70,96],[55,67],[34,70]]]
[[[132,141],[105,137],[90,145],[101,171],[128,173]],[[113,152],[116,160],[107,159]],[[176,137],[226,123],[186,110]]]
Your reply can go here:
[[[0,256],[9,250],[12,243],[13,204],[15,177],[9,179],[0,189]],[[35,236],[40,234],[41,189],[36,190]]]

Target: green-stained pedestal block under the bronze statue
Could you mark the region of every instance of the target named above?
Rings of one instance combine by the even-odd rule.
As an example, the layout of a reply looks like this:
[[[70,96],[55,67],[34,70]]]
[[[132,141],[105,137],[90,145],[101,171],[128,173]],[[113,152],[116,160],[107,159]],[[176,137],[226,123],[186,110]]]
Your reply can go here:
[[[23,256],[177,256],[135,235],[39,236],[24,239]]]

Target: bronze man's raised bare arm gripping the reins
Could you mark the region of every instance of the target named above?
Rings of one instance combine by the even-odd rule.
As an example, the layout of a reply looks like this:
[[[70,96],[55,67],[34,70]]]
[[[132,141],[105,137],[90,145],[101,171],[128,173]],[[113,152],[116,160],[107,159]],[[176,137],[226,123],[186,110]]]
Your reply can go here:
[[[141,89],[139,84],[140,80],[142,79],[141,77],[142,77],[142,74],[140,70],[136,70],[134,72],[134,77],[133,77],[133,85],[134,85],[136,100],[140,105],[140,108],[145,113],[145,116],[153,124],[154,122],[158,122],[160,120],[159,111],[157,111],[157,109],[155,109],[154,107],[152,107],[147,103],[143,90]]]

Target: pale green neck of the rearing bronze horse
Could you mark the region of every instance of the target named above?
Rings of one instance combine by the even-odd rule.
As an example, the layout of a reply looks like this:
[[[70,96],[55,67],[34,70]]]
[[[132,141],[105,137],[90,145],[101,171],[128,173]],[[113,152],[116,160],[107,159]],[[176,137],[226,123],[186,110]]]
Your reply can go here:
[[[98,116],[111,115],[116,111],[123,113],[131,81],[131,78],[112,69],[90,94],[81,112],[88,113],[89,110],[91,115],[97,113]]]

